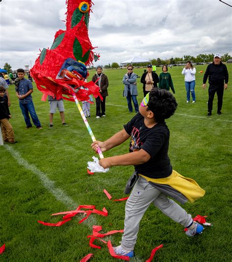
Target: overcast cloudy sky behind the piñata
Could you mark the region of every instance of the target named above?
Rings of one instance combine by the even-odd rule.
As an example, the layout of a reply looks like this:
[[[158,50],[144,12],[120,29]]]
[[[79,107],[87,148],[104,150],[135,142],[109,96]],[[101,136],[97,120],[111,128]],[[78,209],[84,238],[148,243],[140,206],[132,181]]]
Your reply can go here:
[[[232,0],[224,0],[232,5]],[[66,29],[66,0],[1,0],[0,68],[32,65]],[[133,56],[232,55],[232,8],[219,0],[93,0],[89,37],[96,64]]]

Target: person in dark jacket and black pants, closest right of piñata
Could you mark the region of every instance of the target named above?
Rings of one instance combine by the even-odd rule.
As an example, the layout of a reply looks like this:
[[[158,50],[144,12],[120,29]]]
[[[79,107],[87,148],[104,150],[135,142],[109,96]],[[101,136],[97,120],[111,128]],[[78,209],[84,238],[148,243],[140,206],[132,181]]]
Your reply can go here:
[[[98,81],[97,81],[98,79]],[[102,67],[97,66],[96,67],[96,73],[93,75],[92,81],[96,85],[99,86],[100,90],[99,93],[102,95],[103,100],[101,101],[101,98],[98,96],[95,98],[96,100],[96,119],[99,119],[101,117],[105,117],[105,111],[106,111],[106,96],[108,95],[107,88],[109,86],[108,77],[102,72]]]

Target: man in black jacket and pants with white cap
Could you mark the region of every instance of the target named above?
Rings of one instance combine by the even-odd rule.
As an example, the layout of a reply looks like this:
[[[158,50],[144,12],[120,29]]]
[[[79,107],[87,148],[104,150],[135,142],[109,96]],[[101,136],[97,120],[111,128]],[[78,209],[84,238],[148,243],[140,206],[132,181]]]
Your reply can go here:
[[[215,54],[212,64],[210,64],[203,78],[203,89],[206,89],[206,81],[209,76],[209,100],[208,100],[208,116],[212,115],[212,104],[215,93],[217,93],[217,114],[221,115],[222,99],[224,89],[227,89],[229,74],[226,65],[221,62],[221,55]],[[224,84],[225,81],[225,84]]]

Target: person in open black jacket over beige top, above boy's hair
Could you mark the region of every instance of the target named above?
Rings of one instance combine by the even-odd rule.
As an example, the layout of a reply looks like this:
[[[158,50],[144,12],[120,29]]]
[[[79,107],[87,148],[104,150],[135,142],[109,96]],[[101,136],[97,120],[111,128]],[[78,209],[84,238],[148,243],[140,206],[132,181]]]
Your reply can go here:
[[[158,87],[159,76],[157,73],[152,71],[152,65],[147,65],[147,71],[142,74],[140,82],[143,84],[143,95],[144,97],[152,90],[154,87]]]

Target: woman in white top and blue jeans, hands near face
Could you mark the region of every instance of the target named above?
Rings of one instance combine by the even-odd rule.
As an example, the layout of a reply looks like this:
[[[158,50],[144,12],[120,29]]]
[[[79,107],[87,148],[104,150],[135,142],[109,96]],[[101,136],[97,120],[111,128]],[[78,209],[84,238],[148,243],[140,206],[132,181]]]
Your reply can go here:
[[[187,93],[187,103],[190,101],[190,91],[192,95],[192,103],[196,102],[196,95],[195,95],[195,73],[196,69],[192,66],[190,61],[187,61],[185,68],[182,71],[182,74],[185,75],[185,86],[186,86],[186,93]]]

